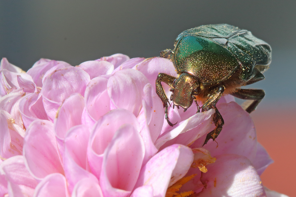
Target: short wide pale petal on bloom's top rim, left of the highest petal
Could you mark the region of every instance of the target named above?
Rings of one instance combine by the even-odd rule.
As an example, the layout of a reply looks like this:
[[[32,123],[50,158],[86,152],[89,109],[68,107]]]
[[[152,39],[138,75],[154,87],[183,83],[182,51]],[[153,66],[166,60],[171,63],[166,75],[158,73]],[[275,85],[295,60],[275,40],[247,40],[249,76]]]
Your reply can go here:
[[[86,61],[76,67],[86,71],[90,79],[100,75],[111,74],[114,70],[114,65],[107,61]]]

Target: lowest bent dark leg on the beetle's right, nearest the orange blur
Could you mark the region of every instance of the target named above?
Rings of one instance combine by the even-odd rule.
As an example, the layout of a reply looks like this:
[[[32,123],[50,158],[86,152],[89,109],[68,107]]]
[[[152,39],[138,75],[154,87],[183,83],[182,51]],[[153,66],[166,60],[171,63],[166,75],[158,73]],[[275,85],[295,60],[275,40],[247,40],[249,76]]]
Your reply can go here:
[[[259,102],[263,99],[265,92],[263,89],[238,89],[237,92],[234,92],[231,95],[240,99],[254,100],[244,108],[244,110],[246,110],[248,113],[251,113],[256,109]]]

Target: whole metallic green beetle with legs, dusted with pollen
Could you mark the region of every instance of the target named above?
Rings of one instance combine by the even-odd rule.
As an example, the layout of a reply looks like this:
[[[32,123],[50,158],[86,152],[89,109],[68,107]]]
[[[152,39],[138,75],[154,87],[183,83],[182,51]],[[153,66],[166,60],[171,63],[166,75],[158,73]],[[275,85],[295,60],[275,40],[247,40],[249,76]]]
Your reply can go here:
[[[172,89],[170,100],[173,108],[181,106],[184,112],[192,105],[202,111],[215,109],[213,122],[216,128],[207,134],[215,140],[224,125],[223,118],[216,108],[222,95],[231,94],[240,99],[253,100],[245,110],[251,113],[263,99],[262,89],[240,89],[264,79],[262,74],[271,63],[271,47],[250,31],[232,25],[202,25],[182,32],[175,40],[174,50],[160,52],[160,57],[169,58],[177,71],[177,77],[159,73],[156,79],[156,93],[163,102],[165,119],[168,118],[168,97],[160,82]]]

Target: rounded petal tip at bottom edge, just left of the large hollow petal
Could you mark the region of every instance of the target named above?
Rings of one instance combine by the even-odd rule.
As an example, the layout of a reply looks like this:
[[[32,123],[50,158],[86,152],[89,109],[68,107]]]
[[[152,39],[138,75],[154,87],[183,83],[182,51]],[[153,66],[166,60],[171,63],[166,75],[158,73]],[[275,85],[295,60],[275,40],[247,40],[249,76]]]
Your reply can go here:
[[[103,197],[103,194],[98,180],[84,178],[75,185],[72,197]]]

